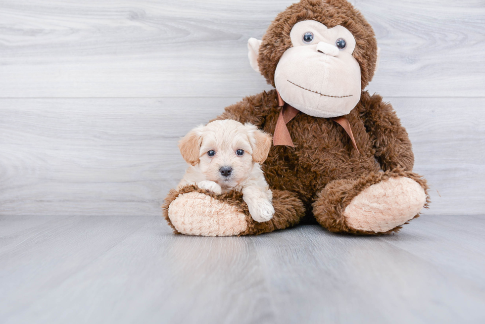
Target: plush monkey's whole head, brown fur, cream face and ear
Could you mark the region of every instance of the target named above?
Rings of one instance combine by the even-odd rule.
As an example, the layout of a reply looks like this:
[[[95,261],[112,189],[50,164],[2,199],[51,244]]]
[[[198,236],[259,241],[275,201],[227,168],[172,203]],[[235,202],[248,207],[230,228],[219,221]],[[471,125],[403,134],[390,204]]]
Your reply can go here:
[[[348,114],[379,66],[374,31],[346,0],[293,3],[262,41],[247,45],[251,67],[284,101],[315,117]]]

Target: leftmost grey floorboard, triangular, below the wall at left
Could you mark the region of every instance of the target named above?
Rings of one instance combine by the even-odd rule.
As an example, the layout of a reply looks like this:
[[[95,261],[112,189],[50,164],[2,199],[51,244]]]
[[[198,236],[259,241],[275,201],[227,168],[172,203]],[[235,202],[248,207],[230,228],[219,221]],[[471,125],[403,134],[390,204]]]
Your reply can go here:
[[[144,216],[63,217],[35,226],[33,219],[20,218],[19,222],[15,217],[13,222],[31,228],[1,237],[0,303],[17,302],[1,307],[0,322],[89,266],[148,220]],[[2,220],[2,226],[9,223]],[[19,286],[24,290],[20,291]]]

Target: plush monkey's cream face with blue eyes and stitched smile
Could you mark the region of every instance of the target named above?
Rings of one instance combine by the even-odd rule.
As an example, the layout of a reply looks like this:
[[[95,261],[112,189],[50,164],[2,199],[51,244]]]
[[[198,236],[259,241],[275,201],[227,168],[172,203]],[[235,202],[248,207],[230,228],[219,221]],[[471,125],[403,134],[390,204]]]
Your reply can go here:
[[[329,29],[305,20],[293,26],[290,38],[292,47],[281,56],[274,79],[283,100],[314,117],[348,114],[362,89],[352,34],[342,26]]]

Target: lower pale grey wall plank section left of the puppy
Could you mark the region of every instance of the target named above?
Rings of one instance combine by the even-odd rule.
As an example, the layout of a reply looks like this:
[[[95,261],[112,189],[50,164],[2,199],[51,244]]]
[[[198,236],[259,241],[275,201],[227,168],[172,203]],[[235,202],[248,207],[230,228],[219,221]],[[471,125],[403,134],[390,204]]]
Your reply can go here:
[[[0,213],[160,214],[177,141],[234,98],[3,99]]]

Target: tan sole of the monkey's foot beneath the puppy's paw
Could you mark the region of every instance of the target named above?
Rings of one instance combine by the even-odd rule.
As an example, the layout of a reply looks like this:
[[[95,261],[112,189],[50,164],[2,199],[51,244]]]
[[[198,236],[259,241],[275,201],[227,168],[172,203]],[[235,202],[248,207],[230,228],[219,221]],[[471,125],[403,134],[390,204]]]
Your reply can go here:
[[[168,217],[187,235],[233,236],[247,229],[246,216],[236,207],[200,192],[179,195],[168,207]]]

